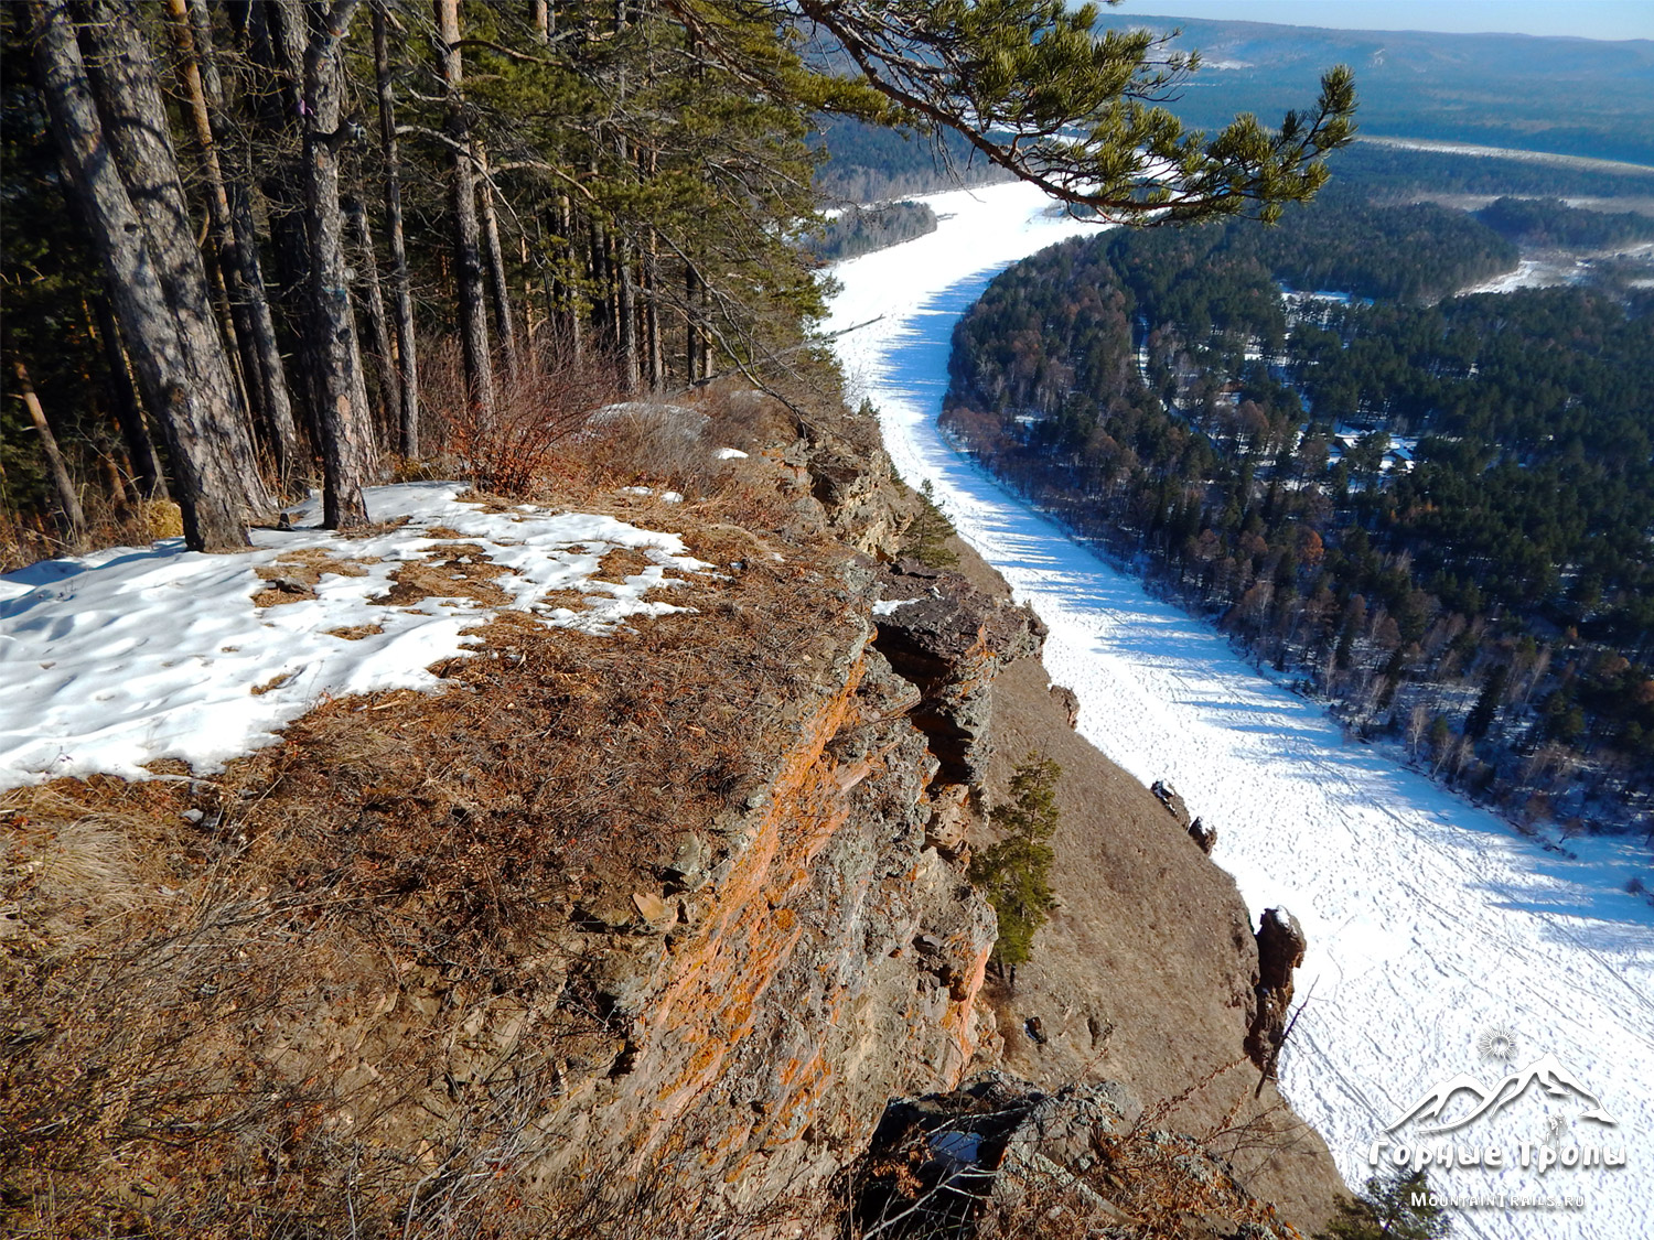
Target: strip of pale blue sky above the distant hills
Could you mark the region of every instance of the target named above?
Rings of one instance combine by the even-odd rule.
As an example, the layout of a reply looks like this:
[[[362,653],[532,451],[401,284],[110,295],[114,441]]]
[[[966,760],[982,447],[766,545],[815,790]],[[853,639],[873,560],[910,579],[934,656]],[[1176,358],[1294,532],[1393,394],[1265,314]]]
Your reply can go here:
[[[1113,12],[1343,30],[1654,38],[1649,0],[1126,0]]]

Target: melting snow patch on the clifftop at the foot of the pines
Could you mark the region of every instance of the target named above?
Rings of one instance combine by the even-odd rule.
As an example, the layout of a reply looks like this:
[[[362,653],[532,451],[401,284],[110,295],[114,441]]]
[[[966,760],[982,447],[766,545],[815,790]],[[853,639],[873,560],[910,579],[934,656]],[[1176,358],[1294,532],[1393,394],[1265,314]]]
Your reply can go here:
[[[0,789],[93,772],[139,779],[162,757],[215,769],[329,696],[438,686],[427,668],[476,645],[466,632],[501,605],[463,589],[443,597],[428,575],[433,597],[374,602],[392,574],[422,560],[455,560],[448,579],[475,575],[506,595],[504,607],[599,635],[683,610],[645,594],[710,567],[675,534],[529,504],[488,513],[460,503],[461,489],[369,489],[375,522],[407,517],[369,537],[318,529],[311,501],[294,509],[296,529],[255,531],[245,552],[203,556],[169,539],[0,577]],[[652,562],[619,582],[594,580],[622,547]],[[483,557],[498,572],[478,569]],[[306,569],[323,570],[314,599],[303,597]],[[283,595],[271,579],[298,600],[256,605],[255,594]],[[546,602],[547,590],[587,597],[559,600],[581,603],[571,608]]]

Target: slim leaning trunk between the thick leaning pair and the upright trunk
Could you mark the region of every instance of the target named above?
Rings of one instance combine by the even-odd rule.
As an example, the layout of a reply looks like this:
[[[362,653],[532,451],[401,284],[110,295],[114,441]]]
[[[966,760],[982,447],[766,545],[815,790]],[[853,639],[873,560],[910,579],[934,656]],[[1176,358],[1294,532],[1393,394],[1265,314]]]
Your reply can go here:
[[[276,341],[276,324],[265,294],[248,192],[225,174],[220,160],[223,86],[213,56],[212,20],[205,0],[189,0],[187,5],[185,0],[167,0],[167,7],[179,43],[180,76],[190,103],[195,142],[207,174],[207,203],[223,260],[243,377],[253,408],[263,422],[281,489],[289,491],[304,473],[303,448],[293,420],[293,393]]]

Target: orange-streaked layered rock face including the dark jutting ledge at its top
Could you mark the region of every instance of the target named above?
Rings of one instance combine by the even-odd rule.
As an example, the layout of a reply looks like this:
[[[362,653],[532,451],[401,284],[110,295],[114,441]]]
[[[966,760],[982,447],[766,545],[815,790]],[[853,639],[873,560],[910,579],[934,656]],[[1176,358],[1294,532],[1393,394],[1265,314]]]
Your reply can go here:
[[[969,794],[992,676],[1042,630],[959,574],[860,557],[840,574],[853,607],[781,711],[774,769],[587,944],[624,1048],[564,1103],[571,1157],[690,1157],[733,1200],[772,1200],[835,1174],[887,1099],[951,1088],[991,1043]]]

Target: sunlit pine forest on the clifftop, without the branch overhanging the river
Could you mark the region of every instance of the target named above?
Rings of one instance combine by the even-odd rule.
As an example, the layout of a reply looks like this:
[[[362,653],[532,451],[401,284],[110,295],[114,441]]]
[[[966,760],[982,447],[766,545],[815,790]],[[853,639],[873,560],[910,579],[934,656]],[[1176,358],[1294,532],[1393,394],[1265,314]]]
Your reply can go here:
[[[719,36],[769,91],[640,5],[73,13],[0,13],[12,562],[180,488],[233,542],[314,481],[349,522],[397,460],[498,483],[571,430],[547,400],[693,385],[819,309],[786,235],[822,93],[761,21]]]

